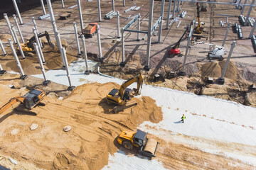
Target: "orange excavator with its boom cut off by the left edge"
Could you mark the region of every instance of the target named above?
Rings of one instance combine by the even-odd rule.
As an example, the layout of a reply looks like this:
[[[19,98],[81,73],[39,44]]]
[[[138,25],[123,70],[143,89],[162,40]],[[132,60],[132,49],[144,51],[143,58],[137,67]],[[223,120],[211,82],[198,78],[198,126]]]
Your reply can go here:
[[[32,113],[38,115],[39,111],[35,108],[36,106],[45,106],[46,104],[42,102],[46,94],[39,89],[32,89],[28,91],[24,96],[17,96],[11,98],[8,103],[0,108],[0,114],[4,113],[8,108],[13,106],[17,102],[21,102],[22,105],[19,105],[15,108],[17,111],[23,111],[26,113]]]

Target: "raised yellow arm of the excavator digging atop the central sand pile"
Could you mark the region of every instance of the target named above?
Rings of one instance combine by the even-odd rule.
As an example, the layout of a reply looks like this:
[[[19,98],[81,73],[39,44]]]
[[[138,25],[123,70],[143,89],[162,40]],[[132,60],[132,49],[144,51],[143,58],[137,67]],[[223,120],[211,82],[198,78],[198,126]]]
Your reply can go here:
[[[139,94],[139,90],[142,88],[142,83],[143,83],[143,76],[142,74],[137,74],[136,76],[132,77],[131,79],[125,81],[120,90],[119,90],[119,96],[121,98],[124,97],[124,91],[125,89],[127,89],[127,87],[131,84],[133,84],[134,82],[137,81],[137,91],[135,91],[137,94]]]

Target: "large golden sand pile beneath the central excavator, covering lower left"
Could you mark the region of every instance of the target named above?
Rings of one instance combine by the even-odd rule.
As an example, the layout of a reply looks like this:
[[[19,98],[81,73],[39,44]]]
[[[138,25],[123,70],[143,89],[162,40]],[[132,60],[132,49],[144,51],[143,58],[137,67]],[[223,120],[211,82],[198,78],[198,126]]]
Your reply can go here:
[[[62,101],[45,98],[47,105],[38,107],[37,116],[9,111],[2,116],[0,124],[0,154],[11,156],[19,162],[36,164],[43,169],[102,169],[108,162],[108,154],[120,147],[115,138],[122,130],[134,130],[145,120],[161,121],[161,108],[149,97],[133,98],[138,106],[113,114],[114,105],[107,105],[106,94],[119,85],[85,84],[76,87],[68,98]],[[18,90],[0,86],[0,102],[17,96]],[[7,90],[8,89],[8,90]],[[3,98],[4,96],[4,98]],[[39,128],[31,131],[32,123]],[[64,132],[70,125],[72,130]],[[18,129],[16,135],[11,131]],[[15,154],[14,154],[15,153]]]

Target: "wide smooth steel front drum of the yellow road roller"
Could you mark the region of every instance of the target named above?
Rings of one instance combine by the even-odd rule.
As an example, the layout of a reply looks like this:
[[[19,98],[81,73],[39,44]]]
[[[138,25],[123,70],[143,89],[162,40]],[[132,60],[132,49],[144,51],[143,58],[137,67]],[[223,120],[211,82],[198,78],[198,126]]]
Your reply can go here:
[[[147,157],[156,157],[156,150],[158,145],[159,142],[157,142],[156,140],[148,139],[146,142],[146,146],[142,147],[139,152]]]

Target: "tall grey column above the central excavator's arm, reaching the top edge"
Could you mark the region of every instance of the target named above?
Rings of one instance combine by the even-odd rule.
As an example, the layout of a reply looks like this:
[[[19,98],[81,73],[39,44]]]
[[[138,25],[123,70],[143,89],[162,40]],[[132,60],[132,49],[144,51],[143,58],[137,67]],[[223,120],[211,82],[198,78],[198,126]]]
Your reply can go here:
[[[149,29],[148,29],[148,39],[146,45],[146,65],[144,69],[149,71],[149,60],[150,60],[150,48],[151,48],[151,29],[152,29],[152,20],[153,20],[153,11],[154,11],[154,0],[150,0],[149,4]]]

